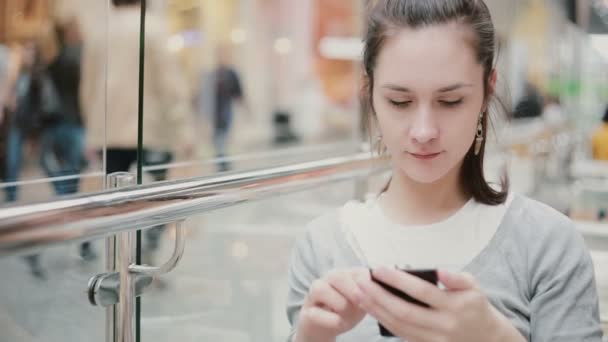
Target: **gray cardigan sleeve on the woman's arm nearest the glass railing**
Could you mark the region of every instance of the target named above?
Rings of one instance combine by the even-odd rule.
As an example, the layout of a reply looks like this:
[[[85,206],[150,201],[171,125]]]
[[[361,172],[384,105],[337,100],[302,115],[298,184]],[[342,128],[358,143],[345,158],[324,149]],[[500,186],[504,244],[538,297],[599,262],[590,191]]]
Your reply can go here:
[[[288,341],[292,341],[295,334],[300,309],[308,294],[312,282],[319,278],[320,270],[318,255],[313,245],[312,233],[309,229],[296,241],[291,254],[289,270],[287,272],[287,318],[291,325]]]

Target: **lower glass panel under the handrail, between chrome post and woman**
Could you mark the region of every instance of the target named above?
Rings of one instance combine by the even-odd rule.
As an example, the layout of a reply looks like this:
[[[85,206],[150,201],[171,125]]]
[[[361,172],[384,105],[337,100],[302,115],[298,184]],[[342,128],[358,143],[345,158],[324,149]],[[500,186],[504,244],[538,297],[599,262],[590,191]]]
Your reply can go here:
[[[353,182],[330,184],[187,220],[184,257],[144,297],[142,340],[285,341],[292,244],[308,221],[353,194]],[[173,239],[169,226],[155,265],[171,255]]]

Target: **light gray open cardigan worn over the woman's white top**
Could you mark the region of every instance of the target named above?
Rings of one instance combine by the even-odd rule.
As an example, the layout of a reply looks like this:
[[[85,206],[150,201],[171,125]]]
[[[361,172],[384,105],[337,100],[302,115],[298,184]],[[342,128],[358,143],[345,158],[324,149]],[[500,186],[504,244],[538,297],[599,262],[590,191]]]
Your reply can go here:
[[[288,273],[292,336],[313,280],[332,269],[363,266],[339,224],[334,210],[311,222],[296,243]],[[494,237],[464,271],[529,341],[602,340],[591,257],[572,221],[550,207],[516,195]],[[381,337],[370,316],[337,339],[395,340]]]

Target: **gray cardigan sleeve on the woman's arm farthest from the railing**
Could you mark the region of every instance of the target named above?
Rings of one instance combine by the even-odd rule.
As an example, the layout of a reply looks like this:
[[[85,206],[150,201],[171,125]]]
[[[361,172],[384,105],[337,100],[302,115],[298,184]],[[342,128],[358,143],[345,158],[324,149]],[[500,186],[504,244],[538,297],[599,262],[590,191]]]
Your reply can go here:
[[[530,341],[600,342],[593,263],[574,224],[560,219],[532,245],[535,248],[528,260]]]

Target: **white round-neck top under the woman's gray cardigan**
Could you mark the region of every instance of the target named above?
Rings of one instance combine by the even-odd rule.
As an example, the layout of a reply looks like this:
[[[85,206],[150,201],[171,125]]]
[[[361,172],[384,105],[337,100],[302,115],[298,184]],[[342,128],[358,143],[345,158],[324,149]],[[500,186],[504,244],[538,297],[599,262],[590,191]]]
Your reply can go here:
[[[340,212],[341,227],[367,266],[461,270],[490,242],[512,198],[497,206],[471,199],[443,221],[403,226],[384,214],[374,196],[347,203]]]

